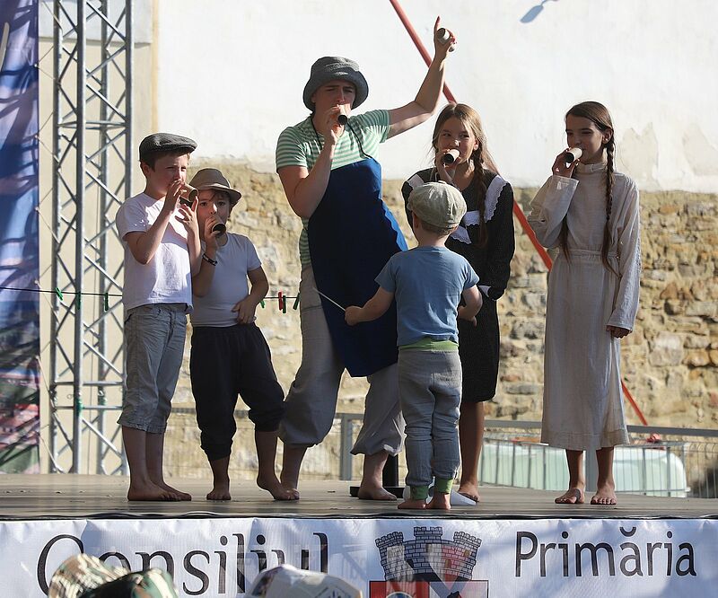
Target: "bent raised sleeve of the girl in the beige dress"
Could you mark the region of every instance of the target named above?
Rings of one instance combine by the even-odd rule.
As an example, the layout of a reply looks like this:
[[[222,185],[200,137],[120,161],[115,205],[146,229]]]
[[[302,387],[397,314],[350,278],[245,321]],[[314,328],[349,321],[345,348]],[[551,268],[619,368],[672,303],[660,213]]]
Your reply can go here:
[[[551,176],[531,202],[529,224],[544,247],[556,247],[578,180]]]

